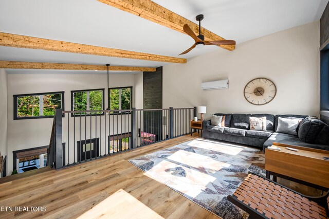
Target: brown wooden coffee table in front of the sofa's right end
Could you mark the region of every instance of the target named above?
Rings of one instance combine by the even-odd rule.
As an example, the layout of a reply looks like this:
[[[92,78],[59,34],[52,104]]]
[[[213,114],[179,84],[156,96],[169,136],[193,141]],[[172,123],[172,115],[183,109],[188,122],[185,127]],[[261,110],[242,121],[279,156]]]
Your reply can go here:
[[[273,175],[307,186],[328,190],[329,188],[329,151],[299,147],[273,142],[281,151],[265,149],[266,177]],[[295,148],[297,152],[286,149]]]

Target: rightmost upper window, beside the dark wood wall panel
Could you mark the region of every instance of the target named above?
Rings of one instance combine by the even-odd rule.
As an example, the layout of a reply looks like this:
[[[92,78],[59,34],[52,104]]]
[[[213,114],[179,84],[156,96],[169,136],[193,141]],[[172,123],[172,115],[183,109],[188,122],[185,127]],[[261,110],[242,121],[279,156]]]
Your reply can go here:
[[[133,87],[109,88],[110,109],[132,109]]]

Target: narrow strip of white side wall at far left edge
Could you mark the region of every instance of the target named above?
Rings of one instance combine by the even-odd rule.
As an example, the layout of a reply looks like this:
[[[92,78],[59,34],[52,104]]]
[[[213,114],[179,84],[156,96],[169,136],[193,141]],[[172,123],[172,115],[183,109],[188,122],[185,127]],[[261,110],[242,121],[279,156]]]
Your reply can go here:
[[[5,158],[7,155],[7,73],[4,69],[0,69],[0,152]]]

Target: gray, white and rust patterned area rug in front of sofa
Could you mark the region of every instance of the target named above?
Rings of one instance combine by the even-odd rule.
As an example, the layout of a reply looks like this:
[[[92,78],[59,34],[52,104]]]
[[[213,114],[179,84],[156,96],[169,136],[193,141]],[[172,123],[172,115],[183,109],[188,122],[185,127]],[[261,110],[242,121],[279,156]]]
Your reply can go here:
[[[259,149],[203,138],[129,161],[224,219],[248,217],[226,197],[234,193],[249,171],[265,176],[265,156]]]

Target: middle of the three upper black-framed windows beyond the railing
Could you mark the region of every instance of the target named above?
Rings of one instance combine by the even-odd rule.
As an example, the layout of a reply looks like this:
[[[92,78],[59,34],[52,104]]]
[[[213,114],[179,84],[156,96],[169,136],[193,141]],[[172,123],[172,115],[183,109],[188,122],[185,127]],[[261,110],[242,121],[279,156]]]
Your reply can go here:
[[[103,110],[103,109],[104,109],[104,89],[71,91],[72,111],[89,111],[89,110]],[[86,113],[81,113],[81,114],[86,114]],[[87,115],[88,114],[90,115],[90,113],[87,113]],[[99,112],[97,114],[104,114],[104,113]]]

